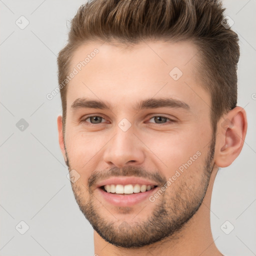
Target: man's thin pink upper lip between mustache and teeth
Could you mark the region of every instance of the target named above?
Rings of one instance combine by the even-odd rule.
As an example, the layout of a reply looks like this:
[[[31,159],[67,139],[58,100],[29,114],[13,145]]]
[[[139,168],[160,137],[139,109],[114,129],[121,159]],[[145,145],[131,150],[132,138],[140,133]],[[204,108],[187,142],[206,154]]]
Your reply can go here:
[[[121,176],[113,176],[110,178],[107,178],[105,180],[102,180],[97,183],[97,186],[103,186],[103,185],[110,185],[110,184],[121,184],[121,185],[127,185],[127,184],[145,184],[145,185],[156,185],[157,184],[151,180],[141,178],[141,177],[121,177]]]

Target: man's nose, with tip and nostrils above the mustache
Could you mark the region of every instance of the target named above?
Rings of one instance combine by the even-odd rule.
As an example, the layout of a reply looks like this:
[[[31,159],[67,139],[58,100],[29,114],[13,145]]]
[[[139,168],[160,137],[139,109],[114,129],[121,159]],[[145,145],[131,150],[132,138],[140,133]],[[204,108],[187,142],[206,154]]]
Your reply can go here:
[[[124,167],[132,163],[138,165],[144,161],[143,144],[133,134],[133,128],[123,131],[118,126],[115,135],[106,144],[103,160],[110,166]]]

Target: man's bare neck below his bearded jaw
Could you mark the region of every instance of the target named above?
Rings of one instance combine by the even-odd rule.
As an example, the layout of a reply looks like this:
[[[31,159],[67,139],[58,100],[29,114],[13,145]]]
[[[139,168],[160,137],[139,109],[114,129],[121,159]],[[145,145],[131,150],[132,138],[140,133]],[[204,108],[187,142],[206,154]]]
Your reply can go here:
[[[217,167],[214,166],[201,206],[193,217],[175,235],[140,248],[116,247],[93,231],[95,255],[166,255],[217,256],[222,255],[213,240],[210,228],[210,200]]]

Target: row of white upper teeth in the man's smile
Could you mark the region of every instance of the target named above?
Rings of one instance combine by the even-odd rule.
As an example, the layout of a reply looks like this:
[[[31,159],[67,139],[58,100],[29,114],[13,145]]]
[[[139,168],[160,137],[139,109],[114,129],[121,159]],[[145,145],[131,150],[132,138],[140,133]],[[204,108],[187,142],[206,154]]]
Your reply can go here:
[[[108,193],[116,193],[116,194],[132,194],[132,193],[139,193],[139,192],[145,192],[152,188],[154,188],[154,185],[140,185],[140,184],[127,184],[127,185],[121,185],[121,184],[107,184],[104,185],[105,190]]]

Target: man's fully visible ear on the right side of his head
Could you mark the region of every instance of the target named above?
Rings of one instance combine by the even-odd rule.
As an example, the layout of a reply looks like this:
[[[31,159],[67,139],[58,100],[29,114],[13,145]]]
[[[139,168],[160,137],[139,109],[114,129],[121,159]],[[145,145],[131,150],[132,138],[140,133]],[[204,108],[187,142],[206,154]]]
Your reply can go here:
[[[218,122],[215,147],[215,164],[229,166],[241,152],[247,131],[244,109],[236,106],[228,111]]]

